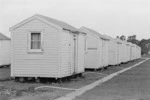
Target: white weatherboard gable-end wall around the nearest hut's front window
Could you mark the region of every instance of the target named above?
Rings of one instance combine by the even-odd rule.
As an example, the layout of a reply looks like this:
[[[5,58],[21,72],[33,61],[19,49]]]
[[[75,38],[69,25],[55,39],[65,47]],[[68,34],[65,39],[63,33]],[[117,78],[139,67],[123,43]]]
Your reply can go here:
[[[42,31],[43,52],[28,51],[30,31]],[[58,76],[58,30],[38,19],[16,28],[12,32],[12,76],[57,77]]]

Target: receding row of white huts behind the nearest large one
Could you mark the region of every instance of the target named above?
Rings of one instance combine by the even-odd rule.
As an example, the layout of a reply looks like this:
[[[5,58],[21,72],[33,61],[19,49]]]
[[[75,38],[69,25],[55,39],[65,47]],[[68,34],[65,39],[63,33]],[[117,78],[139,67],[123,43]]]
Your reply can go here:
[[[99,69],[141,57],[141,48],[135,44],[101,35],[86,27],[81,27],[80,30],[86,33],[85,68]]]

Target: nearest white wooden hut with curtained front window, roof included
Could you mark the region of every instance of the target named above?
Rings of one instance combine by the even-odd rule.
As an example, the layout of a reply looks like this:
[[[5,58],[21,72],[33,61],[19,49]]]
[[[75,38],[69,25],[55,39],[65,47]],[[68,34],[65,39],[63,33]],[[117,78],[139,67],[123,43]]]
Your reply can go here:
[[[10,31],[12,77],[62,78],[84,72],[85,34],[73,26],[36,14]]]

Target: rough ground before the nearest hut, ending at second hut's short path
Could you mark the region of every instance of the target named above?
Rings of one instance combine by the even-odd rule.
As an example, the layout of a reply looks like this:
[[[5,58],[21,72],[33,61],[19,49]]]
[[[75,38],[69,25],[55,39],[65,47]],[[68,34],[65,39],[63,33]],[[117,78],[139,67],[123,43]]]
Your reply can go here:
[[[4,91],[9,92],[10,99],[18,98],[17,100],[19,100],[19,98],[21,97],[21,100],[31,100],[29,98],[32,98],[33,100],[54,100],[55,98],[65,95],[66,93],[72,91],[63,90],[63,89],[54,89],[54,88],[45,88],[45,89],[42,88],[33,92],[30,90],[30,88],[39,87],[39,86],[56,86],[56,87],[63,87],[63,88],[78,89],[82,86],[85,86],[87,84],[90,84],[102,78],[103,76],[104,75],[99,75],[97,73],[87,73],[84,74],[83,77],[73,78],[70,81],[66,81],[63,83],[51,83],[51,84],[35,83],[35,82],[20,83],[20,82],[15,82],[14,80],[1,81],[0,85],[4,85],[4,88],[1,89],[0,92],[3,92],[3,94],[7,94],[4,93]]]

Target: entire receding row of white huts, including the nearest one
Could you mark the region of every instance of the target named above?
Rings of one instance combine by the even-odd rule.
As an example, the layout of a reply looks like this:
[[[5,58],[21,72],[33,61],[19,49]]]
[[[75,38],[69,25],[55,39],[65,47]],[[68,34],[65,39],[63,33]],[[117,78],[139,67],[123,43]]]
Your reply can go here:
[[[36,14],[10,28],[11,76],[63,78],[141,57],[135,44]]]

